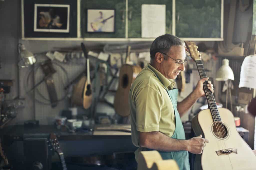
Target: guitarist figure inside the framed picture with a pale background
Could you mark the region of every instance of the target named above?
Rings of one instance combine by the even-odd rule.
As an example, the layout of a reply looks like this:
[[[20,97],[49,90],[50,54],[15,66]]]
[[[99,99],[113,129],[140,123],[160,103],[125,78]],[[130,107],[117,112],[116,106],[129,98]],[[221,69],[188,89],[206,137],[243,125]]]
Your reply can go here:
[[[114,15],[109,16],[108,18],[104,18],[102,11],[99,11],[99,15],[100,16],[95,18],[93,22],[90,22],[91,29],[93,32],[108,32],[107,29],[111,23],[113,23]],[[112,19],[112,21],[110,19]]]

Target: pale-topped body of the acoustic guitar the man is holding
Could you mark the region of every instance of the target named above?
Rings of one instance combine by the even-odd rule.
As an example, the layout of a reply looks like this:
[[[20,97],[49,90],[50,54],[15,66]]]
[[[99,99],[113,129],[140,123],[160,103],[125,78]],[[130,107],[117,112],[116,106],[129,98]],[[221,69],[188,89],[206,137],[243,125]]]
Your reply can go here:
[[[227,135],[220,137],[218,133],[214,133],[216,132],[216,129],[214,130],[216,126],[214,126],[210,109],[200,111],[192,120],[195,135],[202,134],[204,138],[209,140],[202,154],[196,155],[194,169],[256,169],[256,156],[237,132],[232,112],[226,108],[218,108],[218,110],[222,123],[226,127],[224,130]],[[219,128],[221,127],[219,126]],[[219,156],[216,153],[216,151],[227,148],[237,149],[237,153],[223,153]]]

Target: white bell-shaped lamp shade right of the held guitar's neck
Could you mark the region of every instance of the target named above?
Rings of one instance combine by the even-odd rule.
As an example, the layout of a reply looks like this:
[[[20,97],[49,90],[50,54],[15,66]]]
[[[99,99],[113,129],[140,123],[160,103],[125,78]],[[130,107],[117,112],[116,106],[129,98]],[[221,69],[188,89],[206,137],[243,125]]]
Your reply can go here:
[[[222,66],[217,71],[216,80],[217,81],[234,80],[234,73],[232,69],[229,67],[228,59],[222,60]]]

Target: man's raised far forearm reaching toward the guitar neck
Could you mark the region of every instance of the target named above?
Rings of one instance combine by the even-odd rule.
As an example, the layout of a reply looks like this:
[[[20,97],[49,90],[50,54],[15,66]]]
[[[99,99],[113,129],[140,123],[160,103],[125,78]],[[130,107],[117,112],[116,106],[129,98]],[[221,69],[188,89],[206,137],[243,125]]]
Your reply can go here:
[[[188,111],[188,109],[196,102],[198,98],[199,95],[196,94],[195,91],[193,91],[183,101],[177,104],[177,110],[179,112],[180,117]]]

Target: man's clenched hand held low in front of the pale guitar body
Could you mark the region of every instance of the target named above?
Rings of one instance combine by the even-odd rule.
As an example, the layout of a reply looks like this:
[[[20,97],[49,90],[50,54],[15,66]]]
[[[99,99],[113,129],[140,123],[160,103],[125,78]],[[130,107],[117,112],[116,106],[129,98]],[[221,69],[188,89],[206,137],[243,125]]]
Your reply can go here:
[[[188,140],[188,151],[194,154],[201,154],[202,150],[209,143],[208,139],[202,138],[202,135],[191,138]]]

